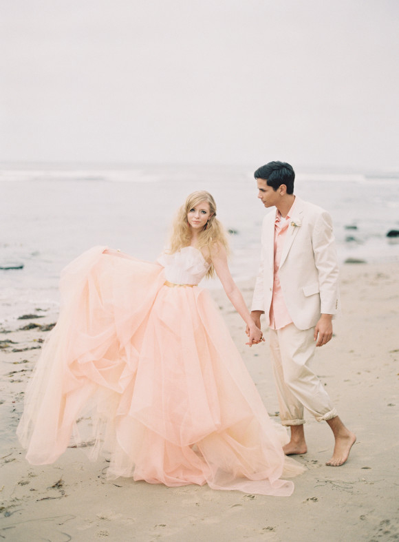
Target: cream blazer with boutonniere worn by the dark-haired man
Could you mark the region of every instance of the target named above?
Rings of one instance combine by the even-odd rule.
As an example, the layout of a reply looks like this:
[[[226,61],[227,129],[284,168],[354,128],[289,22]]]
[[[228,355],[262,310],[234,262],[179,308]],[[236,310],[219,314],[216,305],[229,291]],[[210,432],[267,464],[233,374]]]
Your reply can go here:
[[[338,263],[329,213],[298,197],[295,201],[285,235],[279,277],[292,322],[298,329],[310,329],[322,313],[336,315],[341,311]],[[252,300],[252,311],[264,311],[268,325],[274,275],[275,218],[276,213],[271,212],[263,219],[261,264]]]

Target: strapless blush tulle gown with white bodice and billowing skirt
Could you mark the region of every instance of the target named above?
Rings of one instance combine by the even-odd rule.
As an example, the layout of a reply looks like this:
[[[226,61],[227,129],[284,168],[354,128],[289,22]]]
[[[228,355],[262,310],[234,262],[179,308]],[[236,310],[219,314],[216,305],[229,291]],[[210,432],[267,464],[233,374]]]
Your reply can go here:
[[[283,455],[219,309],[195,286],[194,247],[158,263],[94,247],[61,275],[61,312],[18,427],[32,464],[71,444],[110,452],[108,477],[283,495],[303,467]]]

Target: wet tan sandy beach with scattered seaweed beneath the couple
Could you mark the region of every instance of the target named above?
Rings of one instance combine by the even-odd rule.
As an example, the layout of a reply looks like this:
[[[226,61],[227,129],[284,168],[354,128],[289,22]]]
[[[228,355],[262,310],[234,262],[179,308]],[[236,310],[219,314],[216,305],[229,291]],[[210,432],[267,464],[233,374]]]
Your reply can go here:
[[[241,284],[248,305],[253,281]],[[245,346],[223,291],[213,292],[268,412],[278,418],[268,344]],[[343,315],[317,351],[316,373],[357,435],[349,461],[325,466],[333,439],[307,417],[306,467],[292,497],[107,481],[107,460],[68,448],[54,465],[30,466],[15,430],[23,391],[53,322],[45,311],[0,330],[0,539],[6,541],[390,541],[399,539],[399,264],[346,264]],[[36,327],[32,326],[36,324]],[[51,327],[51,326],[50,326]],[[265,333],[266,337],[268,332]]]

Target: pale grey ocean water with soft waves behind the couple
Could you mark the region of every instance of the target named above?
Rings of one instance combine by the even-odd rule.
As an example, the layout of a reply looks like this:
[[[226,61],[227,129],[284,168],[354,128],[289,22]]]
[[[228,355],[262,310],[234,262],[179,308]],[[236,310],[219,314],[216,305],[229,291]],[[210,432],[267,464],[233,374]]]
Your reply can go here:
[[[238,282],[257,273],[268,210],[250,167],[0,166],[0,324],[36,309],[58,311],[58,278],[70,260],[101,244],[153,261],[191,191],[204,189],[230,235]],[[321,205],[334,222],[338,258],[399,262],[399,171],[296,171],[295,194]],[[208,281],[206,286],[219,287]]]

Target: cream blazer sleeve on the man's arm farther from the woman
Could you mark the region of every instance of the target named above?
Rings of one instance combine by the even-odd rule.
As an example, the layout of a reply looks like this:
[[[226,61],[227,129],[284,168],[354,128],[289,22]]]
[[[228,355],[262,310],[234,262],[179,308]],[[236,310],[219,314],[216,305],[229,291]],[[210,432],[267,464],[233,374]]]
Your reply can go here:
[[[317,218],[313,236],[314,263],[319,273],[321,314],[337,314],[340,309],[338,288],[338,261],[332,231],[332,219],[327,211]]]

